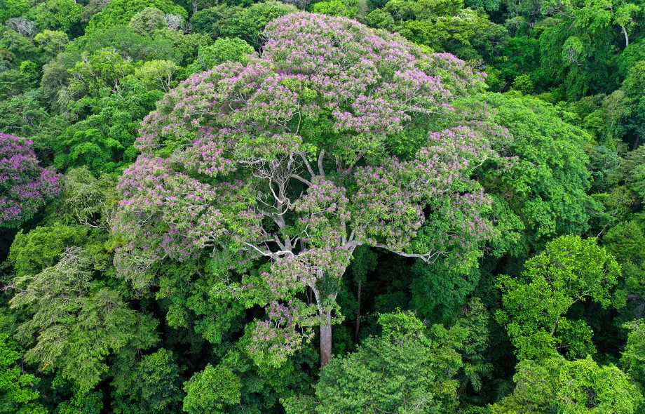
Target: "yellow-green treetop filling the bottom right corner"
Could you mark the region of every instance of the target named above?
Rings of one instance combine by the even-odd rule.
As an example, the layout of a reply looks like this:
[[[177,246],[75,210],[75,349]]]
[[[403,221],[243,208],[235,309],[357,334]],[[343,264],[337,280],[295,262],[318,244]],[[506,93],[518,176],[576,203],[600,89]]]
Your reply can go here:
[[[643,396],[616,366],[591,358],[562,357],[517,364],[513,393],[491,407],[492,414],[639,413]]]

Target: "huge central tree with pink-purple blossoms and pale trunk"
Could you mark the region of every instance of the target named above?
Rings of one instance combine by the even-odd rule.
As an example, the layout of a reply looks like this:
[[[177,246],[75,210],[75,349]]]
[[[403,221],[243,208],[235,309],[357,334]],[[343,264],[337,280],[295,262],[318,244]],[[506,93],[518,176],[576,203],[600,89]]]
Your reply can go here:
[[[487,134],[431,132],[482,79],[346,18],[294,13],[264,34],[262,55],[191,76],[144,120],[114,260],[145,287],[162,260],[209,252],[210,294],[266,308],[255,361],[279,365],[318,327],[325,365],[357,246],[468,266],[491,236],[470,179]]]

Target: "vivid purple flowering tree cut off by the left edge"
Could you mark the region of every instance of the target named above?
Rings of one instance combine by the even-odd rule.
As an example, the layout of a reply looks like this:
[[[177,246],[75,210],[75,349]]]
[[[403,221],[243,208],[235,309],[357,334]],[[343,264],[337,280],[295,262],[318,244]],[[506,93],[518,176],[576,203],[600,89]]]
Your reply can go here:
[[[60,192],[60,175],[42,168],[32,141],[0,133],[0,228],[19,227]]]

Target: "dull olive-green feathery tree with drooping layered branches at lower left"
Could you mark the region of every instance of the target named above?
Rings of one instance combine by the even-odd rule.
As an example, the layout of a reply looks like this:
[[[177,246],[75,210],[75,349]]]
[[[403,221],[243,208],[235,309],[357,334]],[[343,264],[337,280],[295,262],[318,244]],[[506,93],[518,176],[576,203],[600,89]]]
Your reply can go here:
[[[18,277],[13,309],[25,312],[17,337],[27,350],[25,361],[43,372],[58,370],[62,378],[87,392],[100,382],[108,366],[105,357],[135,352],[156,342],[156,321],[130,309],[118,293],[95,288],[91,261],[80,248],[68,248],[60,261],[41,273]]]

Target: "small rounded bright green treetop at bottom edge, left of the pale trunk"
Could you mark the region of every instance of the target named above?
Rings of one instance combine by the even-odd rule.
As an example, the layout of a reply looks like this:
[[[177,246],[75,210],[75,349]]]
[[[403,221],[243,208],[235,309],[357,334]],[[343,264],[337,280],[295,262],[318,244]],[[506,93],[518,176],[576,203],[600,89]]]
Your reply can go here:
[[[184,383],[184,411],[189,414],[224,414],[226,406],[240,402],[240,378],[231,368],[210,363]]]

